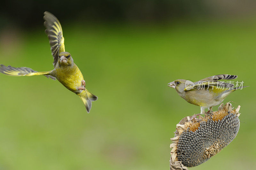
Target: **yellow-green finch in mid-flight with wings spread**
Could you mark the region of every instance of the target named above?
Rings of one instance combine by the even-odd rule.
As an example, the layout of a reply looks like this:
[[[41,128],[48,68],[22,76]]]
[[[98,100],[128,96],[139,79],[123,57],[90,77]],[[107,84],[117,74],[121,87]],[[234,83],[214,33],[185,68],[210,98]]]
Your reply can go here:
[[[64,37],[59,20],[50,12],[44,12],[45,33],[51,45],[54,69],[47,72],[37,72],[28,67],[12,67],[1,65],[0,72],[11,76],[44,75],[53,80],[60,81],[70,91],[76,93],[84,102],[89,113],[92,101],[98,99],[85,88],[83,74],[76,66],[69,52],[65,52]]]

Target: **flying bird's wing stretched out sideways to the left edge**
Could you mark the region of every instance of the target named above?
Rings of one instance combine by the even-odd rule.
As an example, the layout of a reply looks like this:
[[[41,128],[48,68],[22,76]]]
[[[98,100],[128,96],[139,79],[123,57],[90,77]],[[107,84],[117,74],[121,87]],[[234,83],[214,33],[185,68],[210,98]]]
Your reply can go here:
[[[49,74],[51,71],[48,72],[37,72],[31,68],[28,67],[12,67],[12,66],[4,66],[4,65],[0,65],[0,72],[7,74],[7,75],[11,75],[11,76],[32,76],[32,75],[44,75],[47,78],[51,78],[52,80],[56,80],[55,77],[51,76],[51,75],[47,75]]]

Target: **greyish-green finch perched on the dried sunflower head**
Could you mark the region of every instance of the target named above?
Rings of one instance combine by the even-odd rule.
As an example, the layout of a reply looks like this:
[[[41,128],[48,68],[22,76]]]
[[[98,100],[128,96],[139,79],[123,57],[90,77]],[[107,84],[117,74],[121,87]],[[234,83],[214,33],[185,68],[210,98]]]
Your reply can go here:
[[[205,108],[212,111],[212,107],[219,105],[231,92],[247,87],[236,88],[234,84],[218,81],[236,78],[237,75],[220,74],[196,82],[178,79],[168,83],[168,86],[174,88],[188,103],[200,106],[200,114],[203,114]]]

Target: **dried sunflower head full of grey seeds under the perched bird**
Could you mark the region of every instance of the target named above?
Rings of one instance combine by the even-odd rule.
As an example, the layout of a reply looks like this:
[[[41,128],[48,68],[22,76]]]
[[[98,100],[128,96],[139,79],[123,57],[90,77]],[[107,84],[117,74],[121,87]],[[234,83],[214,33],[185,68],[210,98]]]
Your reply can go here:
[[[198,120],[191,120],[192,116],[180,120],[175,137],[171,138],[170,169],[188,170],[198,166],[232,142],[240,126],[240,106],[232,109],[230,103],[221,104],[218,111],[199,116]]]

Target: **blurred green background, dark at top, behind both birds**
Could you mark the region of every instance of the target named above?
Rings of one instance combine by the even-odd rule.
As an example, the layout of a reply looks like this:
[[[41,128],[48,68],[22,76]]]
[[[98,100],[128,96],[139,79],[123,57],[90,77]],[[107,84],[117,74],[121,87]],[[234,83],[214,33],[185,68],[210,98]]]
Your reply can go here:
[[[200,108],[167,83],[216,74],[250,85],[224,100],[241,105],[240,130],[227,148],[191,169],[255,168],[253,1],[61,2],[5,2],[0,63],[53,69],[43,26],[50,11],[99,99],[87,114],[58,81],[0,74],[0,169],[169,169],[176,124]]]

